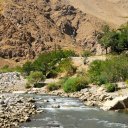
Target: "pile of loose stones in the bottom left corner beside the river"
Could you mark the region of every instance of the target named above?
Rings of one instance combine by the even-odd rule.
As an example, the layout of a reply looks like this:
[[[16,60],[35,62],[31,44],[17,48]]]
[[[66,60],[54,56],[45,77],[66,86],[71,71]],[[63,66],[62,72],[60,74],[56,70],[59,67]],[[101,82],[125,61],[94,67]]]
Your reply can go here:
[[[0,128],[18,128],[36,114],[32,98],[14,94],[0,94]]]

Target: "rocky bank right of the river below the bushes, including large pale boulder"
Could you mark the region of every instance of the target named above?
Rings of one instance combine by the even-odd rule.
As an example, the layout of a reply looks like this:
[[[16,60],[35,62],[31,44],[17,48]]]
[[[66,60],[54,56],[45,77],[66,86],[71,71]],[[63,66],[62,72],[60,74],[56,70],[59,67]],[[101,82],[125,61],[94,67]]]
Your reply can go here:
[[[128,108],[127,87],[124,82],[118,83],[119,90],[108,93],[104,86],[89,85],[88,88],[79,92],[65,93],[62,89],[47,91],[46,86],[43,88],[32,88],[25,93],[49,94],[61,97],[73,97],[80,99],[85,105],[98,107],[105,111],[120,110]]]

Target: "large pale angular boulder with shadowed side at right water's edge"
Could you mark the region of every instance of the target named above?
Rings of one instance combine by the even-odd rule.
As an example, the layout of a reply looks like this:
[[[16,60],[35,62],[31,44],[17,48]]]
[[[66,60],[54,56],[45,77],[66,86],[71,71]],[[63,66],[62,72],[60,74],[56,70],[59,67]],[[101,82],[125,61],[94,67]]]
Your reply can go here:
[[[104,103],[103,110],[118,110],[128,108],[128,96],[116,97]]]

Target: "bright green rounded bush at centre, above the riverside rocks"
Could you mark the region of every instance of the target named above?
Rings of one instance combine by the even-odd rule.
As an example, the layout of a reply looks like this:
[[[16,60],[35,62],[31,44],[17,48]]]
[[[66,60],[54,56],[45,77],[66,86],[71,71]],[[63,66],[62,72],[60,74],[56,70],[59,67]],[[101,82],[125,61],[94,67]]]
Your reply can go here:
[[[65,92],[76,92],[80,91],[83,88],[86,88],[88,81],[84,77],[69,78],[63,84],[63,89]]]

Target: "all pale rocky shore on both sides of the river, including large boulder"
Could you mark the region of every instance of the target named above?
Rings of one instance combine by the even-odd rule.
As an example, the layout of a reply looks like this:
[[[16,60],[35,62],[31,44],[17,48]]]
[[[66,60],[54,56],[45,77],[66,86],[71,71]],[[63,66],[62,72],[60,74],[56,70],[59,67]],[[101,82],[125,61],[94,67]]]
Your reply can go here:
[[[0,74],[0,128],[17,128],[20,123],[30,121],[31,115],[38,113],[35,100],[23,97],[24,94],[79,98],[85,105],[103,110],[128,108],[128,89],[123,82],[118,83],[119,90],[113,93],[108,93],[104,86],[97,85],[89,85],[88,88],[74,93],[65,93],[62,89],[49,92],[47,86],[25,89],[25,82],[26,80],[16,72]],[[53,107],[59,108],[59,105]]]

